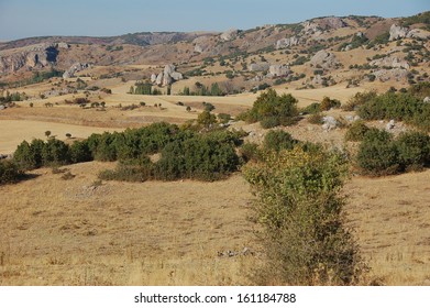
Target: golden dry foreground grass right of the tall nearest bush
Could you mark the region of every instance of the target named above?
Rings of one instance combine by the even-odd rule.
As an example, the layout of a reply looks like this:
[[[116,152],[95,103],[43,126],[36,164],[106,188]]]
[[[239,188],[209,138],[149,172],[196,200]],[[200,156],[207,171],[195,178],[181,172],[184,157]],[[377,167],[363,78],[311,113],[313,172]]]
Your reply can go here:
[[[430,170],[354,177],[346,213],[372,274],[388,285],[430,285]]]

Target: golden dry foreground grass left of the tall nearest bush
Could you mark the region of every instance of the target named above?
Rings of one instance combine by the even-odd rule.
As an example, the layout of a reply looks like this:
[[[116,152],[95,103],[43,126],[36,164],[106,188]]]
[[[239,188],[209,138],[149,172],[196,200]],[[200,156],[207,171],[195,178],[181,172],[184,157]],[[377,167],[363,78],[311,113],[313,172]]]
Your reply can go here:
[[[0,285],[246,284],[255,250],[249,188],[225,182],[103,183],[112,164],[38,169],[0,188]],[[234,190],[232,190],[234,187]]]

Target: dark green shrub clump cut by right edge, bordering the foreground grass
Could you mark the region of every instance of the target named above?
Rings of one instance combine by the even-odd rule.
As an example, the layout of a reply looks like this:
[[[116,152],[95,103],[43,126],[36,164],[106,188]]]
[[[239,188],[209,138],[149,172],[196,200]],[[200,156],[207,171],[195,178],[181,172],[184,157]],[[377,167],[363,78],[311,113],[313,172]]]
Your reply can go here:
[[[356,162],[365,174],[374,176],[422,169],[430,165],[430,136],[406,132],[394,139],[386,131],[370,129],[360,144]]]

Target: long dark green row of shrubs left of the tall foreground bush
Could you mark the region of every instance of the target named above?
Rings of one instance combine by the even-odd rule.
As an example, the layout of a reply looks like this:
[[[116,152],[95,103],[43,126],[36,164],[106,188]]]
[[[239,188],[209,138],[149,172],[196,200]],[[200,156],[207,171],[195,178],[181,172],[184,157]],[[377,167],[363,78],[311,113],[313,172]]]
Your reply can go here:
[[[173,180],[197,178],[214,180],[236,170],[235,147],[241,134],[229,131],[198,133],[177,125],[154,123],[124,132],[92,134],[68,145],[59,140],[22,142],[13,160],[23,169],[58,166],[89,161],[120,161],[115,170],[101,173],[103,179]],[[161,154],[152,163],[148,155]]]

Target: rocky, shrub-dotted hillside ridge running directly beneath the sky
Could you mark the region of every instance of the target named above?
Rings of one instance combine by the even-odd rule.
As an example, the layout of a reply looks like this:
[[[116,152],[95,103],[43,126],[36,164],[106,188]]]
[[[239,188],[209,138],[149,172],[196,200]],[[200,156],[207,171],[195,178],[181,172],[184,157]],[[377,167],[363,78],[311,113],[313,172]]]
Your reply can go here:
[[[339,82],[343,78],[339,76],[350,69],[359,76],[349,77],[353,85],[354,78],[406,79],[411,70],[428,68],[429,38],[430,12],[403,19],[327,16],[224,33],[33,37],[0,44],[0,75],[4,80],[16,73],[67,70],[77,63],[174,63],[183,73],[188,70],[188,76],[225,74],[228,79],[242,76],[255,82],[266,79],[271,84],[273,78],[286,77],[297,80],[305,74],[304,85],[313,87]],[[152,74],[158,73],[150,72],[148,79]]]

